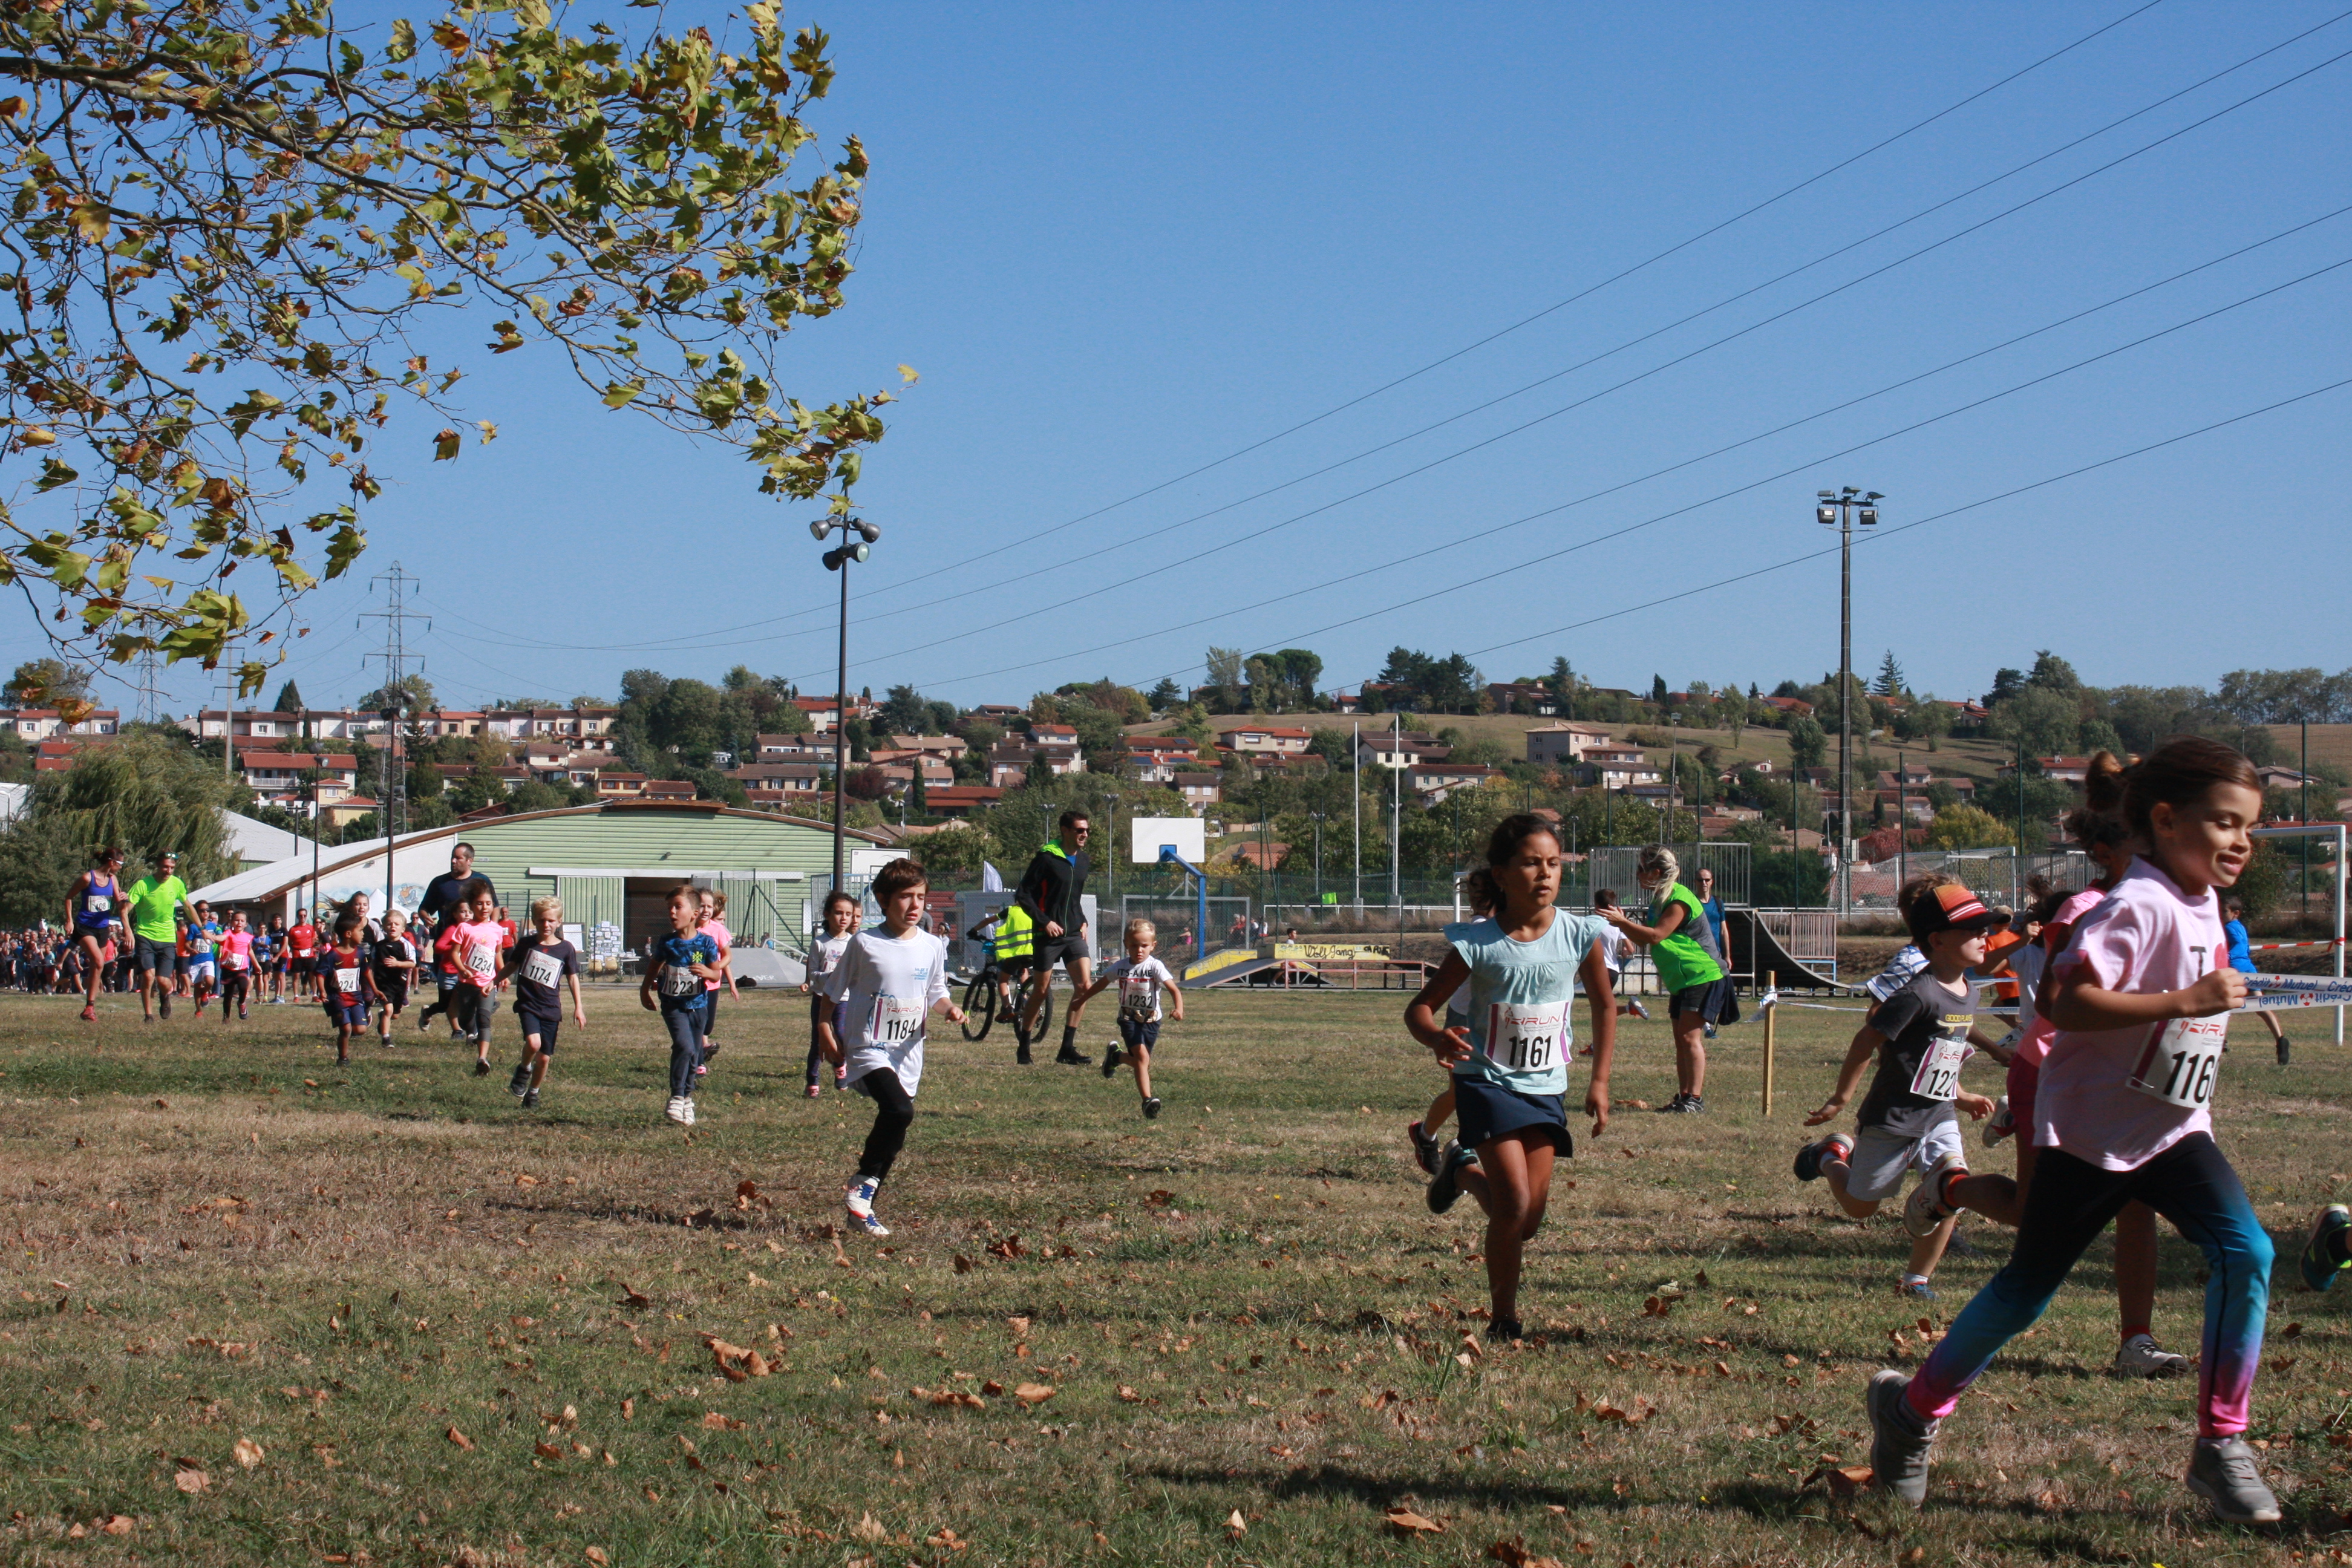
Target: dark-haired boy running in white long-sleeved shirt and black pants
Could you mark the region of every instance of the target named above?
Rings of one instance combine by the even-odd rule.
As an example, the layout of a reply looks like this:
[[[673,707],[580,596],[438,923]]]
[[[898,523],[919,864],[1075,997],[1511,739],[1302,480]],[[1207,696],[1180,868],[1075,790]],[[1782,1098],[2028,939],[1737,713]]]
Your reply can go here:
[[[882,929],[851,936],[840,961],[816,980],[830,1004],[816,1023],[816,1041],[826,1060],[847,1063],[849,1088],[875,1103],[875,1126],[844,1199],[868,1237],[889,1234],[875,1215],[875,1194],[915,1124],[924,1023],[934,1011],[964,1023],[964,1009],[948,997],[948,945],[922,929],[929,882],[915,860],[884,865],[873,882]]]

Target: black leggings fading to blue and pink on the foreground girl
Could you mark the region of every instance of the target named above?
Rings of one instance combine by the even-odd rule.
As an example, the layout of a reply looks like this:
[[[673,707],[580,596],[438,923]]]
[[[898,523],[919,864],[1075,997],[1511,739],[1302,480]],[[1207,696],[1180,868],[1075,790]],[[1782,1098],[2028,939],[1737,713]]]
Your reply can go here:
[[[2197,1434],[2246,1429],[2253,1368],[2263,1359],[2270,1309],[2270,1234],[2246,1201],[2237,1171],[2209,1133],[2190,1133],[2131,1171],[2100,1171],[2063,1150],[2042,1150],[2009,1262],[1952,1319],[1912,1378],[1915,1415],[1943,1420],[2011,1338],[2032,1328],[2084,1248],[2124,1204],[2143,1201],[2206,1258],[2204,1356],[2197,1363]]]

